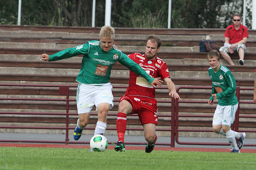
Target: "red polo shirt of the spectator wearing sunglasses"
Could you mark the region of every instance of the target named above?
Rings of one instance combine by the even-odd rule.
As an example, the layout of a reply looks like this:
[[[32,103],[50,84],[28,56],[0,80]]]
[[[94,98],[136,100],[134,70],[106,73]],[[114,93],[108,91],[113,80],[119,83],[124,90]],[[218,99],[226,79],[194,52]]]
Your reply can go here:
[[[248,37],[248,29],[241,24],[239,29],[236,30],[234,24],[232,24],[226,28],[224,37],[230,38],[229,43],[234,44],[236,42],[239,42],[244,37]]]

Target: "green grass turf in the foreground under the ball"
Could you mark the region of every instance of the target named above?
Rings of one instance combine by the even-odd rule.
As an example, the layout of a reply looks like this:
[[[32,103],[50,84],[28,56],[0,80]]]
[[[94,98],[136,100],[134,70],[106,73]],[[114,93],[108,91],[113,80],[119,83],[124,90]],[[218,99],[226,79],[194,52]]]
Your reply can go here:
[[[0,147],[0,169],[189,170],[256,169],[255,153]]]

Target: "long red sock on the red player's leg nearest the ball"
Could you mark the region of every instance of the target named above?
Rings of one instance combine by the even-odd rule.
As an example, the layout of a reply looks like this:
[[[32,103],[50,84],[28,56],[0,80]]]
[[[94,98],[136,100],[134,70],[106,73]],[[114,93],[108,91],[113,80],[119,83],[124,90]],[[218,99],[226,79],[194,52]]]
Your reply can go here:
[[[124,143],[124,134],[126,129],[126,114],[119,112],[117,114],[117,121],[116,121],[116,129],[118,135],[118,141],[123,141]]]

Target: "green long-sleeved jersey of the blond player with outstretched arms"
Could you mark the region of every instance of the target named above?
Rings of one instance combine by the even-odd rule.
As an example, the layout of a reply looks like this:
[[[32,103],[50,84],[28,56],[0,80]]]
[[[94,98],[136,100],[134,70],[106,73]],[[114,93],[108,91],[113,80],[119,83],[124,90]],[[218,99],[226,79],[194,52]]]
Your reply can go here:
[[[67,48],[49,56],[48,61],[57,61],[64,58],[83,54],[82,66],[77,81],[83,84],[104,84],[110,80],[112,65],[119,61],[137,75],[141,75],[151,84],[151,78],[137,63],[131,60],[120,50],[111,48],[108,52],[100,48],[100,41],[88,41],[74,48]]]

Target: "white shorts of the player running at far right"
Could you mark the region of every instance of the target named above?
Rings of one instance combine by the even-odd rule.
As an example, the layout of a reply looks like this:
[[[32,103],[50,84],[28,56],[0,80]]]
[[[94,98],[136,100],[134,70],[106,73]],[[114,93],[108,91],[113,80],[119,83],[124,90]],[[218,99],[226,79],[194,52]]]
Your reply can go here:
[[[234,122],[238,104],[221,106],[217,105],[216,110],[213,115],[212,125],[225,125],[231,126]]]

